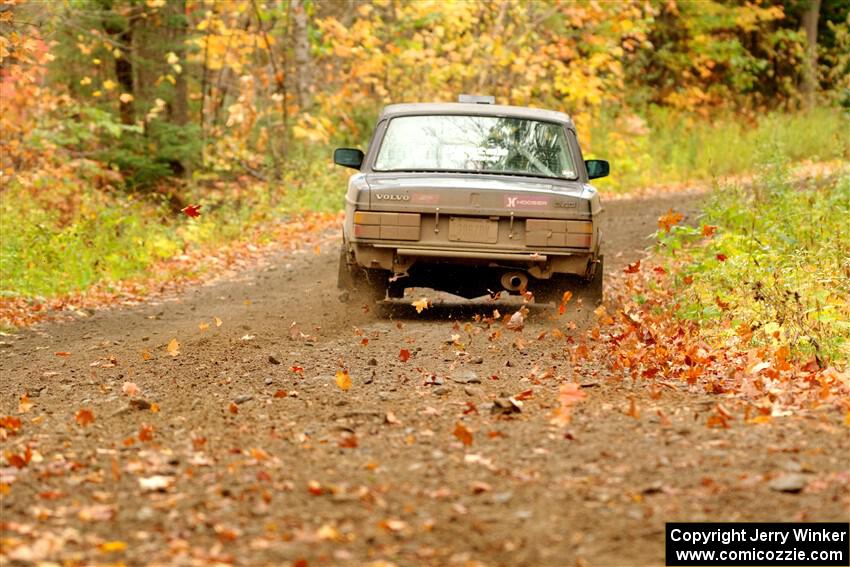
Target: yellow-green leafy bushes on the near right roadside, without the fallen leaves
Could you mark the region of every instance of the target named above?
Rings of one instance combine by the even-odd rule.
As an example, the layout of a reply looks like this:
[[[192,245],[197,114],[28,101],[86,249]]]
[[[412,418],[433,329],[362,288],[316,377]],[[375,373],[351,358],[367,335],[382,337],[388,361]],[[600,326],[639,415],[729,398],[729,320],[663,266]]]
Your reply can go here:
[[[781,161],[751,186],[723,186],[705,208],[717,233],[679,226],[660,245],[683,265],[680,315],[726,339],[787,342],[850,358],[850,171],[792,183]],[[710,232],[710,230],[708,231]],[[743,328],[741,327],[743,325]]]

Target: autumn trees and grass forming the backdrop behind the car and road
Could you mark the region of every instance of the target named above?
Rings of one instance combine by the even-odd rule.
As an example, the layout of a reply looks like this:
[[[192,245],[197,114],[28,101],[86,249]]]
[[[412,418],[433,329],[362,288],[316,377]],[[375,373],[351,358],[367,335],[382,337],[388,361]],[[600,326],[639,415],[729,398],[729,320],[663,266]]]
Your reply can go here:
[[[331,149],[390,102],[568,112],[609,194],[850,159],[847,2],[226,5],[0,9],[0,301],[150,289],[338,211]]]

